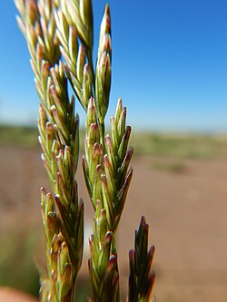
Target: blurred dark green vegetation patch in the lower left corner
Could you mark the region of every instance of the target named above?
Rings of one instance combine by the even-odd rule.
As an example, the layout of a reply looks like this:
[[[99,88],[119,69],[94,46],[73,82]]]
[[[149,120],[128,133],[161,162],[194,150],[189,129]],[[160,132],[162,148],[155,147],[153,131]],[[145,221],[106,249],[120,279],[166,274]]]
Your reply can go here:
[[[15,231],[15,226],[3,229],[0,248],[1,286],[15,287],[38,296],[39,273],[34,259],[37,242],[40,242],[40,234],[35,229],[27,231],[25,226],[24,230],[17,228]]]

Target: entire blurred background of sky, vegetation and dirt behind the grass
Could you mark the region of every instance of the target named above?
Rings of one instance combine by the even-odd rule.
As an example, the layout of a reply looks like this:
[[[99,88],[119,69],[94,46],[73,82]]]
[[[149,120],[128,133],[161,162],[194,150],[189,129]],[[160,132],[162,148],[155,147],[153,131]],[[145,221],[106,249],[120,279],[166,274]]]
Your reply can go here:
[[[105,1],[94,0],[94,54]],[[123,297],[128,250],[145,215],[156,246],[158,301],[227,296],[227,2],[109,1],[113,82],[133,127],[133,182],[117,237]],[[44,266],[39,188],[48,189],[35,128],[38,98],[15,5],[0,17],[0,286],[38,293]],[[95,62],[95,57],[94,57]],[[84,127],[84,112],[77,111]],[[83,139],[81,140],[83,148]],[[85,235],[93,210],[79,165]],[[79,276],[87,293],[87,258]]]

